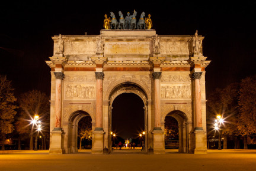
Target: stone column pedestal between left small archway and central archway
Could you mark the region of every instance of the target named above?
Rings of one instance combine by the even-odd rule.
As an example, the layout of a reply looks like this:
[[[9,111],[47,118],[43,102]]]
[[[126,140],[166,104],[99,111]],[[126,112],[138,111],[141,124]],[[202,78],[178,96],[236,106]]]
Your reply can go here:
[[[104,131],[101,128],[97,128],[92,131],[93,141],[92,141],[92,154],[103,154],[104,149]]]

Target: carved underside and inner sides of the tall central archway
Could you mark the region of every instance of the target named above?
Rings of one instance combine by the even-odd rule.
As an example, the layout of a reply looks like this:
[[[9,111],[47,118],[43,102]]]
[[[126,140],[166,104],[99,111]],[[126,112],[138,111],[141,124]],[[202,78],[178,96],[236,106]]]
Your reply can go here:
[[[145,142],[145,149],[147,149],[147,142],[148,142],[148,111],[147,111],[147,96],[146,96],[146,93],[145,91],[143,90],[142,87],[140,87],[139,85],[135,84],[135,83],[131,83],[131,82],[126,82],[126,83],[122,83],[122,84],[119,84],[117,85],[110,93],[110,97],[109,97],[109,100],[110,100],[110,111],[109,111],[109,121],[110,121],[110,126],[109,126],[109,132],[112,132],[112,109],[113,109],[113,102],[114,100],[120,96],[120,94],[134,94],[135,96],[139,96],[141,98],[141,100],[143,101],[143,104],[142,104],[142,107],[143,107],[143,117],[144,117],[144,126],[143,126],[143,129],[142,130],[139,130],[138,129],[138,136],[139,136],[139,133],[141,131],[145,131],[145,135],[143,137],[143,140]],[[136,119],[136,118],[135,118]],[[112,145],[113,145],[113,135],[110,134],[110,137],[109,137],[109,149],[110,152],[113,152],[112,150]]]

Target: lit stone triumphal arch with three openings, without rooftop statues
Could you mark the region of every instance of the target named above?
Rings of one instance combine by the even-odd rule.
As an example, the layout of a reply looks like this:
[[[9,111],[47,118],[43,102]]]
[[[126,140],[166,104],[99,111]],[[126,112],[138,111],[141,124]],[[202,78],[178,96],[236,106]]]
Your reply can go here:
[[[107,18],[107,17],[106,17]],[[111,110],[122,93],[142,98],[146,151],[165,153],[164,120],[179,126],[179,152],[207,153],[205,68],[201,35],[154,29],[102,29],[56,35],[51,68],[50,153],[77,152],[78,121],[92,119],[92,153],[111,152]],[[151,150],[152,151],[152,150]]]

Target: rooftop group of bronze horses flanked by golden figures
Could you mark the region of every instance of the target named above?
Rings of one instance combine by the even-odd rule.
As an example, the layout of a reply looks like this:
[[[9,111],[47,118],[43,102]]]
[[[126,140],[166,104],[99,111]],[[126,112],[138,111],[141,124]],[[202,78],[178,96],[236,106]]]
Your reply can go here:
[[[151,29],[152,28],[152,20],[151,15],[148,15],[148,18],[145,17],[145,12],[142,12],[140,15],[140,19],[137,22],[136,19],[137,11],[133,11],[133,15],[130,15],[130,12],[127,13],[127,16],[124,18],[121,11],[119,11],[119,22],[114,15],[114,12],[110,12],[110,17],[107,17],[105,14],[104,24],[103,27],[105,29]]]

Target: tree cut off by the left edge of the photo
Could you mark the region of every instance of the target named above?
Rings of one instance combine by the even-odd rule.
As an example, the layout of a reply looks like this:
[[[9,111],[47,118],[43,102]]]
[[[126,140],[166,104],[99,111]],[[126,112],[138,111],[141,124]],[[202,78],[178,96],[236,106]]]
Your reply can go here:
[[[14,104],[17,99],[14,97],[14,88],[6,75],[0,75],[0,132],[2,139],[2,150],[5,150],[5,135],[14,130],[12,121],[17,113]]]

